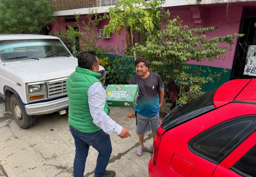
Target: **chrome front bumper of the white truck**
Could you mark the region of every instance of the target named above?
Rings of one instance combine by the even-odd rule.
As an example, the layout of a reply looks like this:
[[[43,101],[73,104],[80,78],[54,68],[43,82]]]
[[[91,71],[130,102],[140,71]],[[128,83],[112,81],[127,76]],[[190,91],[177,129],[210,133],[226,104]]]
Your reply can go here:
[[[58,112],[68,108],[68,97],[55,99],[53,101],[25,105],[28,115],[40,115]]]

